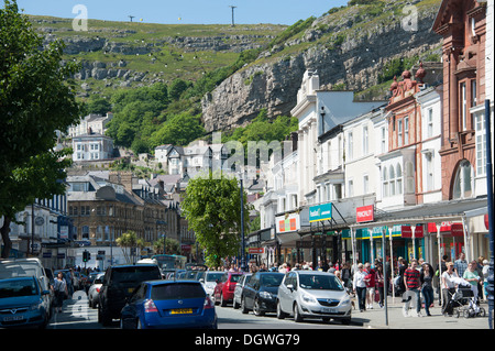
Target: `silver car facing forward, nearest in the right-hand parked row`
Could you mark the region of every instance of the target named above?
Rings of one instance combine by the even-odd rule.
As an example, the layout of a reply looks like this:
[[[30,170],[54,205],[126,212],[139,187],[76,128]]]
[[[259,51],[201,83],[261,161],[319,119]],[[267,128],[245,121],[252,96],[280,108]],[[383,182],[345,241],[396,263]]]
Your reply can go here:
[[[322,318],[349,325],[351,310],[351,297],[331,273],[290,271],[278,287],[278,319],[293,315],[296,322],[304,318]]]

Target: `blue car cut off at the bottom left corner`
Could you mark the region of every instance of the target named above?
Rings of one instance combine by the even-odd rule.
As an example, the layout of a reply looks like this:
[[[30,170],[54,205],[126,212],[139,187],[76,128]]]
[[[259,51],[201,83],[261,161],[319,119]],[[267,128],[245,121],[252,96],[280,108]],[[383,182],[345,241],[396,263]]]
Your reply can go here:
[[[48,323],[48,290],[42,290],[33,277],[0,281],[0,328],[37,327]]]

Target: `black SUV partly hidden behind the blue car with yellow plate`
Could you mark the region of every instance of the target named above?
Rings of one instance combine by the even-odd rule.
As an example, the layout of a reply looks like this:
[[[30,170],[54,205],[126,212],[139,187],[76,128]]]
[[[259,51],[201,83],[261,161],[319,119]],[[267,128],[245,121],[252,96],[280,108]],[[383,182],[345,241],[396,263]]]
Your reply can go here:
[[[120,318],[125,299],[142,282],[162,279],[156,264],[127,264],[110,266],[103,276],[98,303],[98,322],[103,326]]]

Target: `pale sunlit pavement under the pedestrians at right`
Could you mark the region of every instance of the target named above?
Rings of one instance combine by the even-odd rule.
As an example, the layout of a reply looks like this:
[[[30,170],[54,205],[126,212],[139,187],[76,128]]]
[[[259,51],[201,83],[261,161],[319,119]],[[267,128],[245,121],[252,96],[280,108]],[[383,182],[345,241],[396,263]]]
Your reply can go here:
[[[443,316],[437,296],[435,306],[430,308],[431,316],[426,316],[425,309],[421,308],[424,317],[404,317],[402,297],[388,296],[386,309],[380,308],[375,303],[373,309],[360,312],[356,303],[355,305],[352,319],[362,322],[369,329],[490,329],[487,303],[480,304],[486,311],[485,317],[470,318],[464,318],[462,312],[459,318]],[[410,310],[409,315],[416,315],[416,308]]]

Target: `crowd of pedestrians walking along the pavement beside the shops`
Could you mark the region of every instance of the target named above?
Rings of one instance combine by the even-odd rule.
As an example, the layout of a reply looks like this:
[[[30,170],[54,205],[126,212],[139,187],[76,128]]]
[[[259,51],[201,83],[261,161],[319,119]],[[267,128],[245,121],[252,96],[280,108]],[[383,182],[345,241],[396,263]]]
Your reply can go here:
[[[241,271],[239,264],[230,264],[228,267],[218,267],[220,271]],[[477,300],[486,298],[486,285],[488,274],[488,261],[479,257],[477,261],[466,262],[465,254],[459,254],[458,260],[450,262],[444,255],[441,264],[437,268],[425,262],[425,260],[407,260],[398,257],[394,264],[394,274],[389,261],[386,261],[386,277],[384,275],[383,262],[378,259],[373,264],[370,262],[358,262],[354,266],[352,262],[332,264],[327,261],[319,261],[316,267],[311,262],[300,262],[294,264],[282,263],[267,266],[249,263],[246,271],[254,273],[257,271],[287,273],[293,270],[316,270],[336,274],[348,292],[358,299],[360,311],[373,309],[375,304],[380,308],[384,307],[384,299],[388,294],[400,296],[404,303],[403,315],[431,316],[430,308],[435,306],[435,295],[439,298],[439,306],[443,315],[452,315],[449,309],[449,299],[455,293],[459,281],[462,278],[472,285],[474,296]],[[387,279],[387,292],[385,292],[385,281]],[[422,312],[421,309],[425,311]],[[425,314],[425,315],[424,315]]]

